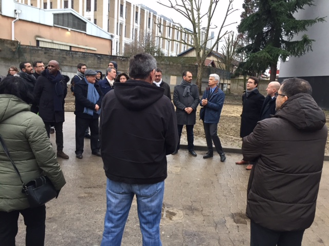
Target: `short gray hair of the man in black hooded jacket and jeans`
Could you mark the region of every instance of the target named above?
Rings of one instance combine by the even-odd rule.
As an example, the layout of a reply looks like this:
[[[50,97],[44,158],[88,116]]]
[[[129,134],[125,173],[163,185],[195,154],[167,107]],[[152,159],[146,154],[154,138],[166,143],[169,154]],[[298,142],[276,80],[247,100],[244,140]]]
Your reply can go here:
[[[156,59],[147,53],[139,53],[129,60],[129,76],[134,79],[145,79],[156,69]]]

